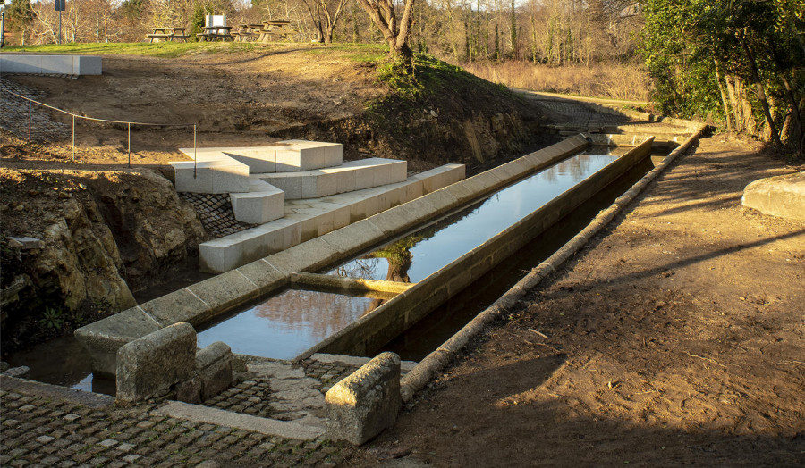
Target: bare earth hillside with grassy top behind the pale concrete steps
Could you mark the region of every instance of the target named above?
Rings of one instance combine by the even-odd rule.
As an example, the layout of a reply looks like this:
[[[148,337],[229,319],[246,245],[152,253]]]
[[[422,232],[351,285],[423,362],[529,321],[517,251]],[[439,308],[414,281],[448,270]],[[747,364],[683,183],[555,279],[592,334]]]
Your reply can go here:
[[[347,159],[407,159],[411,169],[420,170],[445,162],[475,166],[518,155],[538,143],[538,126],[545,123],[505,88],[434,59],[418,59],[417,82],[400,82],[389,75],[385,51],[377,46],[74,48],[64,50],[104,54],[104,74],[75,80],[11,79],[44,92],[47,104],[81,115],[196,123],[199,146],[320,139],[343,143]],[[50,48],[12,49],[21,50]],[[114,158],[110,149],[125,150],[123,126],[78,121],[77,128],[85,162],[103,163]],[[188,129],[132,129],[136,163],[180,159],[176,149],[192,146]]]

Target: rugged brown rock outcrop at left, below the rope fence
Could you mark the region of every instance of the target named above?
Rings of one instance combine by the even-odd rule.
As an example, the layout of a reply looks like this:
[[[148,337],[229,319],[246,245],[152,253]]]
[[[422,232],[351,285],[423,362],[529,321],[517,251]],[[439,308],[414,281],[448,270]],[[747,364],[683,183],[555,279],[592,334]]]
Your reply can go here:
[[[5,338],[21,322],[41,323],[47,309],[57,311],[52,328],[62,328],[88,305],[109,313],[136,305],[131,291],[165,278],[205,238],[198,215],[158,171],[3,169],[0,184],[11,259],[3,288],[29,279],[4,304]],[[41,242],[26,248],[10,236]]]

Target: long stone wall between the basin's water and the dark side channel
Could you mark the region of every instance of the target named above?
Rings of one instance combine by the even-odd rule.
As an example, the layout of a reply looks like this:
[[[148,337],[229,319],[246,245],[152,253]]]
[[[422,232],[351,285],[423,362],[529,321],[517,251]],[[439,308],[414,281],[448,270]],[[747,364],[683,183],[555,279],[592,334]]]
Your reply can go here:
[[[483,245],[419,281],[373,312],[364,315],[358,322],[352,323],[334,336],[298,355],[295,360],[304,359],[314,353],[346,355],[374,353],[377,348],[410,328],[438,305],[469,286],[472,281],[479,279],[496,264],[528,244],[532,238],[629,171],[640,160],[648,157],[652,142],[653,140],[648,138],[603,170],[583,180],[561,196],[557,196]],[[487,172],[505,170],[504,165]],[[462,183],[454,184],[454,186],[461,185]]]

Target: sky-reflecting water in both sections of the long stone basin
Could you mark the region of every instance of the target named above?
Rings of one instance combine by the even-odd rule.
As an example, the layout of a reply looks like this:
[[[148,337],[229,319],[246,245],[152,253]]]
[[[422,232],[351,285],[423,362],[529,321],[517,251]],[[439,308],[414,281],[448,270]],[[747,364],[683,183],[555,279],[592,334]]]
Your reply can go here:
[[[579,154],[326,274],[415,283],[496,236],[617,159]],[[199,347],[224,341],[233,352],[290,359],[371,313],[386,298],[344,291],[286,289],[257,305],[209,323]]]

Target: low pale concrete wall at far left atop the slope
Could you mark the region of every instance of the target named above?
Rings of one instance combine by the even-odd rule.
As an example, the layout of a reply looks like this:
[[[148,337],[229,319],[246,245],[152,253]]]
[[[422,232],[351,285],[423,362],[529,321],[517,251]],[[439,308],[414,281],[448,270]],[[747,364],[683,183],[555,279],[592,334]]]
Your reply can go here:
[[[101,69],[94,55],[0,54],[0,73],[100,75]]]

